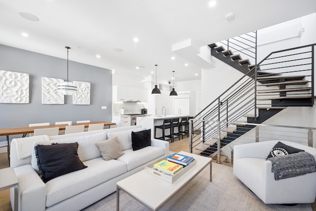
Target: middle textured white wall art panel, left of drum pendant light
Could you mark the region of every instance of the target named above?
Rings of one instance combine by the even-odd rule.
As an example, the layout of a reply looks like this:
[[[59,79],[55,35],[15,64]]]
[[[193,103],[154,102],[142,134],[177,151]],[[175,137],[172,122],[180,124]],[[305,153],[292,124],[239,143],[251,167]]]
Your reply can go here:
[[[65,97],[58,92],[57,85],[64,80],[41,77],[41,103],[42,104],[64,104]]]

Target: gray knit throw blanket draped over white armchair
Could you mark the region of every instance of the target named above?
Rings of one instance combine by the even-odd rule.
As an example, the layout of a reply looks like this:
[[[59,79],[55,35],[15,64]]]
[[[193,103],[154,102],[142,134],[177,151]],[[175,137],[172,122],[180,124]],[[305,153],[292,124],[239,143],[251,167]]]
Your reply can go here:
[[[276,156],[267,160],[272,163],[271,171],[275,173],[275,180],[316,172],[315,158],[307,152]]]

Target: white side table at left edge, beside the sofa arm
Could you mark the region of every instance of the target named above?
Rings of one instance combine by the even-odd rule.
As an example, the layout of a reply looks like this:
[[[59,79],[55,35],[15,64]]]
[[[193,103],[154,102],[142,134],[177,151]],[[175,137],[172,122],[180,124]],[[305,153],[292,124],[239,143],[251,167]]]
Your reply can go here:
[[[0,169],[0,191],[14,187],[14,211],[18,211],[19,182],[12,167]]]

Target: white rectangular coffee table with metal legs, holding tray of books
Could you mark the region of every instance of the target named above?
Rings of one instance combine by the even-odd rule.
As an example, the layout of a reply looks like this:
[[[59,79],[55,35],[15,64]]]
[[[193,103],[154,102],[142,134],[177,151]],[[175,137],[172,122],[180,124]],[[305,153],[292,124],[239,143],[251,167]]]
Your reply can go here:
[[[149,209],[157,210],[207,165],[210,166],[210,181],[212,181],[211,158],[187,152],[179,152],[179,154],[193,157],[197,160],[197,164],[172,184],[145,172],[145,170],[118,181],[117,211],[119,210],[119,190],[124,191]]]

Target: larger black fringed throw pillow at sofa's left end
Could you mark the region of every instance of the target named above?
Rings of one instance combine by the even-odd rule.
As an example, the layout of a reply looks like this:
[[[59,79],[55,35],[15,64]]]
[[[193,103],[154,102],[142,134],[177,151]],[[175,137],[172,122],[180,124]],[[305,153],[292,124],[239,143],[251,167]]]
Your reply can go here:
[[[78,143],[64,143],[35,146],[35,154],[42,174],[42,180],[49,180],[86,166],[79,160]]]

